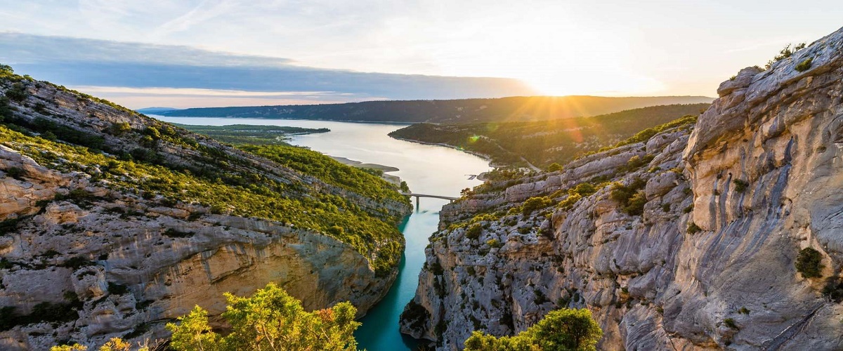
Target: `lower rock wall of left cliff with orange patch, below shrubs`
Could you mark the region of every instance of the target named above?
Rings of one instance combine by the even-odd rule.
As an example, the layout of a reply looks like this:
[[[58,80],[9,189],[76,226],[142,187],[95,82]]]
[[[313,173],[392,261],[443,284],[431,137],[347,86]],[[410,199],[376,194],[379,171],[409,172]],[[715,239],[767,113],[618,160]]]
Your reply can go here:
[[[10,168],[24,173],[10,177]],[[395,279],[332,237],[98,188],[87,174],[40,167],[4,146],[0,172],[0,209],[19,220],[0,233],[0,306],[28,315],[72,296],[80,305],[78,319],[0,332],[3,349],[165,338],[164,324],[193,306],[216,316],[224,292],[250,295],[269,282],[309,310],[350,300],[364,313]],[[55,200],[72,189],[95,198]]]

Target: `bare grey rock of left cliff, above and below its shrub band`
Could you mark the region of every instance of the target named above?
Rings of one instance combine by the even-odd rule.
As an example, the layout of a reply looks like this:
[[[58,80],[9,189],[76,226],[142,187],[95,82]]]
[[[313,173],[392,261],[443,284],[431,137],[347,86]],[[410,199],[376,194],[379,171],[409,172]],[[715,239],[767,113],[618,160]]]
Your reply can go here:
[[[125,122],[132,130],[162,126],[45,82],[28,82],[26,89],[27,98],[13,103],[15,118],[48,120],[101,137],[110,152],[131,152],[143,142],[137,134],[113,135],[115,124]],[[410,210],[406,201],[357,194],[185,130],[173,134],[157,141],[156,162],[191,169],[216,155],[227,161],[228,174],[255,173],[291,184],[284,196],[342,196],[382,221]],[[191,140],[193,147],[178,142]],[[85,169],[77,171],[40,164],[26,155],[48,151],[0,142],[3,349],[164,338],[164,324],[193,306],[217,315],[225,310],[223,292],[250,295],[269,282],[308,309],[350,300],[365,313],[397,274],[396,267],[376,274],[377,252],[363,254],[324,232],[118,187],[96,177],[105,165],[77,165]],[[391,240],[382,244],[403,247],[400,237]],[[37,321],[44,315],[51,322]]]

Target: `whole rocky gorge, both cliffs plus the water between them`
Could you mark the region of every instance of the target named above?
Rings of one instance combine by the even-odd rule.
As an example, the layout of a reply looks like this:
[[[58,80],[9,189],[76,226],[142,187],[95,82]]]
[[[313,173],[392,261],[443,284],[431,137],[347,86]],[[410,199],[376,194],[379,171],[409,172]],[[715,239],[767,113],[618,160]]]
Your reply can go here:
[[[330,131],[231,146],[10,69],[0,91],[3,349],[167,338],[194,305],[219,327],[224,291],[268,282],[350,300],[370,349],[415,348],[400,330],[457,350],[561,308],[593,314],[599,349],[843,348],[843,29],[702,114],[485,183],[479,157],[389,139],[403,125],[238,119]],[[319,152],[462,196],[411,214]]]

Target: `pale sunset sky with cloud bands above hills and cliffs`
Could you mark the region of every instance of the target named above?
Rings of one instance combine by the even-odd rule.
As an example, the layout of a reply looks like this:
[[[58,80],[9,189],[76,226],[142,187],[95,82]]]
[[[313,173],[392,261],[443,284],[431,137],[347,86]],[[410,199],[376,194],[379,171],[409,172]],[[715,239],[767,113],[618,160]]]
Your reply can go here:
[[[0,0],[0,62],[131,108],[716,96],[839,0]]]

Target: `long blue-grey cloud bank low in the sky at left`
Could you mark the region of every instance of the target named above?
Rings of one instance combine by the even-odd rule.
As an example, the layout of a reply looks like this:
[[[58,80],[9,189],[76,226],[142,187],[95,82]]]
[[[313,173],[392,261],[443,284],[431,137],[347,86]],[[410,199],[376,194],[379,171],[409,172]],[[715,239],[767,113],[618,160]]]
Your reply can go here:
[[[288,102],[296,97],[296,101],[314,104],[384,98],[496,98],[534,94],[523,82],[509,78],[331,70],[297,66],[286,58],[206,51],[189,46],[19,33],[0,33],[0,62],[11,64],[17,72],[62,85],[111,87],[104,93],[118,103],[125,101],[121,97],[132,95],[136,98],[132,104],[141,104],[138,97],[186,98],[185,93],[190,94],[194,103],[198,98],[222,97],[240,105],[244,98]],[[153,103],[151,100],[150,104]]]

